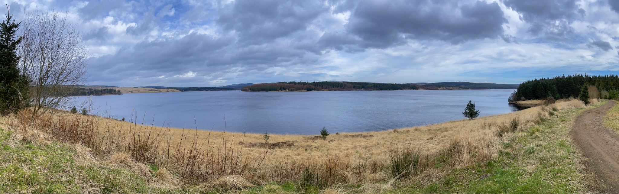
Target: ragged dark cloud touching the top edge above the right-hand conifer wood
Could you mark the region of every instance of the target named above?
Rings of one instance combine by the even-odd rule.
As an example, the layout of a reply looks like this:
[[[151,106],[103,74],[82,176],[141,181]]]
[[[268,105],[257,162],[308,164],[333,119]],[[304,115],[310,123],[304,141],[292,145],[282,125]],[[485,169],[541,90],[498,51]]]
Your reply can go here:
[[[543,33],[550,40],[566,40],[573,35],[574,29],[569,22],[586,14],[575,0],[506,0],[503,3],[531,25],[530,33]]]

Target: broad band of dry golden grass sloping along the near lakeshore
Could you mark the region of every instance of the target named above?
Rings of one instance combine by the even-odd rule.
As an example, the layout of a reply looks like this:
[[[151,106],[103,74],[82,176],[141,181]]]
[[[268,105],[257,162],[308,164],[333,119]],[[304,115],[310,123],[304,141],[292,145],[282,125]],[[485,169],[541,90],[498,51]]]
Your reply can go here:
[[[591,102],[595,104],[597,100]],[[102,152],[105,155],[98,156],[100,160],[105,157],[106,164],[124,166],[144,177],[152,172],[141,162],[154,162],[166,168],[155,177],[166,180],[168,186],[192,183],[198,190],[228,190],[264,181],[293,181],[322,188],[361,183],[360,190],[374,193],[389,190],[397,179],[428,185],[440,180],[451,169],[493,159],[500,149],[499,143],[513,139],[514,131],[528,129],[565,108],[584,106],[579,100],[561,100],[550,106],[474,120],[360,135],[331,131],[326,141],[314,136],[271,134],[269,143],[279,144],[261,144],[263,134],[161,128],[71,113],[52,119],[59,123],[67,120],[64,123],[69,125],[80,118],[82,123],[84,117],[91,118],[89,126],[99,131],[98,135],[105,134],[97,137],[105,141],[96,148],[100,155]],[[418,152],[412,159],[417,162],[412,167],[415,169],[407,169],[411,173],[406,177],[400,177],[404,173],[393,173],[402,170],[392,170],[393,154],[403,146]],[[81,160],[90,157],[78,155],[76,158]],[[448,165],[433,168],[439,162],[436,158],[444,158]],[[157,182],[158,178],[149,177],[149,180]]]

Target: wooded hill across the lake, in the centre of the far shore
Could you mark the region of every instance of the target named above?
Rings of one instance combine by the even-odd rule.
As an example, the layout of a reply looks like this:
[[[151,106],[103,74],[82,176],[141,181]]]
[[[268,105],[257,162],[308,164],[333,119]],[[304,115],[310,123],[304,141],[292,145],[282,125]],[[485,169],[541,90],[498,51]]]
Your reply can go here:
[[[455,87],[455,86],[451,86]],[[368,82],[277,82],[271,84],[254,84],[245,86],[241,91],[250,92],[274,92],[300,90],[415,90],[415,89],[438,89],[438,87],[426,87],[417,84],[381,84]]]

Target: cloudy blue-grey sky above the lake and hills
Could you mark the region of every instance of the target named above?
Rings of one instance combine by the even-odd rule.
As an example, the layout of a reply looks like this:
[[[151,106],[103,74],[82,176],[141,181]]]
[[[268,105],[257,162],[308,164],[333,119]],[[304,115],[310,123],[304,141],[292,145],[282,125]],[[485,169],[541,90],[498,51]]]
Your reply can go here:
[[[77,24],[90,85],[617,74],[619,0],[5,1]],[[4,11],[6,12],[6,11]]]

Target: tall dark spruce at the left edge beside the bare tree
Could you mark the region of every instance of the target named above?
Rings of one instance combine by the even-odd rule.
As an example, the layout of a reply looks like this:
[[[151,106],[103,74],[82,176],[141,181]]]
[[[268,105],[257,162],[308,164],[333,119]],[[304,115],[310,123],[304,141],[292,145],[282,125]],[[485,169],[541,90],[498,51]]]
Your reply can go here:
[[[17,45],[24,37],[17,37],[19,24],[10,12],[0,23],[0,115],[17,112],[28,106],[30,80],[17,68],[20,56]]]

